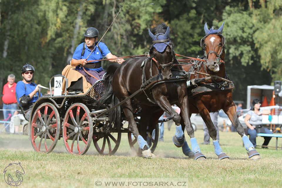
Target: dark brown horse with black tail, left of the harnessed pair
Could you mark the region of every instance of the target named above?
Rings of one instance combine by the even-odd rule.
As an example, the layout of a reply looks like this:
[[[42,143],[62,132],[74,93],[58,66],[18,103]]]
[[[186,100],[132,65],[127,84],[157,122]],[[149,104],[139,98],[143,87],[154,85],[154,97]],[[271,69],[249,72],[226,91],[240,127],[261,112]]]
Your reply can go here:
[[[129,131],[137,138],[143,157],[152,157],[152,152],[145,141],[147,139],[147,126],[148,136],[152,137],[152,131],[155,129],[155,125],[164,111],[171,115],[176,126],[180,127],[182,131],[180,125],[181,117],[172,109],[171,105],[176,104],[182,110],[182,120],[188,128],[193,129],[188,116],[187,78],[173,80],[173,74],[170,70],[171,65],[178,62],[169,39],[169,27],[165,24],[160,24],[152,31],[154,34],[149,29],[149,35],[153,40],[153,45],[149,51],[150,58],[129,58],[121,65],[111,64],[104,78],[105,93],[99,100],[100,104],[106,104],[110,101],[110,106],[113,107],[137,92],[132,98],[133,100],[129,99],[122,104],[122,109],[129,123]],[[181,67],[178,70],[183,73]],[[150,83],[155,82],[153,81],[154,78],[160,81],[160,83],[150,87]],[[146,85],[146,83],[149,83],[149,85]],[[145,87],[144,84],[146,85]],[[142,87],[144,89],[138,92]],[[139,130],[134,121],[133,101],[139,104],[142,109]],[[114,126],[121,126],[118,108],[111,110],[109,117],[110,123],[113,123]]]

